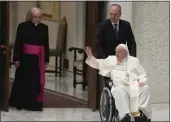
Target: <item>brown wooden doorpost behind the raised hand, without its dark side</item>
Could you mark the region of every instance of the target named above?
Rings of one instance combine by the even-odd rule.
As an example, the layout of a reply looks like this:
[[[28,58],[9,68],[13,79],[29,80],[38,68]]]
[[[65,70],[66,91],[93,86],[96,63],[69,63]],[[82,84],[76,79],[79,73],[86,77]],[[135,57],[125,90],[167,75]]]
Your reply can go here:
[[[85,46],[90,46],[95,51],[96,31],[99,20],[99,1],[86,1],[86,37]],[[84,57],[85,61],[86,57]],[[88,108],[97,110],[97,70],[84,64],[85,79],[88,81]]]

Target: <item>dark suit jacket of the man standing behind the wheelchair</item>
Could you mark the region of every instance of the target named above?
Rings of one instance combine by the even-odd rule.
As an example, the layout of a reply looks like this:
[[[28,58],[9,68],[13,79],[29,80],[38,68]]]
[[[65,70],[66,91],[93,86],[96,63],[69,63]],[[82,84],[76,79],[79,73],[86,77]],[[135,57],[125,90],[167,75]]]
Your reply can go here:
[[[115,48],[118,44],[128,45],[131,56],[136,57],[136,42],[128,21],[119,20],[118,40],[113,25],[109,19],[100,23],[97,31],[97,58],[106,58],[115,55]]]

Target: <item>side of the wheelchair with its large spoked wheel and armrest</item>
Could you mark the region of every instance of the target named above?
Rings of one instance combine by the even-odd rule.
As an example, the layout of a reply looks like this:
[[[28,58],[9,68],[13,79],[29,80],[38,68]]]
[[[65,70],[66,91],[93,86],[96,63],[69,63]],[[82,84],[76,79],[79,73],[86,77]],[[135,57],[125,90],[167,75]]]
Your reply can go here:
[[[100,98],[100,118],[102,122],[119,121],[119,113],[111,93],[112,86],[112,80],[105,77],[105,87],[103,88]]]

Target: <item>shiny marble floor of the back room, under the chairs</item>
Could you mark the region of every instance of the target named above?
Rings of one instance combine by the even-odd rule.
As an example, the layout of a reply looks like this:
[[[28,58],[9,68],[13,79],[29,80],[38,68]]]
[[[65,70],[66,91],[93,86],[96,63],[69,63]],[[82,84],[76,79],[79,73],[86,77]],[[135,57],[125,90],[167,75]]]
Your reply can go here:
[[[12,66],[9,73],[11,79],[14,79],[14,72],[15,67]],[[82,80],[80,76],[78,76],[77,79],[79,81]],[[73,88],[73,75],[71,72],[65,72],[65,77],[55,77],[54,73],[46,73],[45,88],[86,101],[88,99],[87,89],[82,91],[82,86],[80,84],[76,86],[76,89]]]

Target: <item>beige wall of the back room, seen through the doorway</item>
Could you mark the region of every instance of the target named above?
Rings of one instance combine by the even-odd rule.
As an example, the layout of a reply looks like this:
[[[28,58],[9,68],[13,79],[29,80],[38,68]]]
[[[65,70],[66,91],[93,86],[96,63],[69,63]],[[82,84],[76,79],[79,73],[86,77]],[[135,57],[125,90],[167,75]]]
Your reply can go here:
[[[36,6],[35,1],[30,2],[10,2],[10,42],[13,43],[16,36],[16,28],[18,24],[22,21],[25,21],[25,16],[27,11]],[[68,23],[67,30],[67,49],[71,46],[77,46],[77,37],[76,32],[77,20],[79,19],[77,15],[77,2],[61,2],[60,7],[61,17],[65,16]],[[81,18],[80,18],[81,19]],[[49,26],[49,38],[50,38],[50,48],[55,48],[56,39],[57,39],[57,27],[58,23],[54,21],[43,20],[45,24]],[[80,27],[79,27],[80,28]],[[76,34],[77,33],[77,34]],[[82,34],[84,36],[84,34]],[[81,43],[80,43],[81,41]],[[79,40],[79,47],[83,47],[84,40]],[[66,58],[69,59],[69,70],[72,70],[72,60],[73,53],[67,51]],[[50,59],[50,67],[54,68],[54,58]]]

